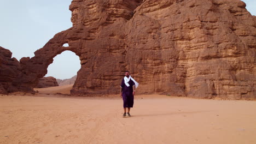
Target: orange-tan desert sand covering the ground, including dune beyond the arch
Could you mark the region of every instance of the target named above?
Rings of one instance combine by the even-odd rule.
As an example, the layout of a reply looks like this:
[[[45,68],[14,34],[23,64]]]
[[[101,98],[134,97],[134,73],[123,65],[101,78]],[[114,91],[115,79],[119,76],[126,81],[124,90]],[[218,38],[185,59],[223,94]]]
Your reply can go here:
[[[0,143],[256,143],[256,101],[71,97],[71,85],[0,96]]]

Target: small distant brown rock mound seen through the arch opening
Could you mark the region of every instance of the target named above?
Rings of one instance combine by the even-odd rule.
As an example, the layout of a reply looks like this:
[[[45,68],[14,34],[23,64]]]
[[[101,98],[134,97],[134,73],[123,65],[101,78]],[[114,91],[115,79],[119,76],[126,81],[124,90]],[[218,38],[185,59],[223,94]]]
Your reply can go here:
[[[56,87],[56,86],[59,86],[57,83],[57,80],[53,76],[48,76],[48,77],[40,78],[36,88]]]

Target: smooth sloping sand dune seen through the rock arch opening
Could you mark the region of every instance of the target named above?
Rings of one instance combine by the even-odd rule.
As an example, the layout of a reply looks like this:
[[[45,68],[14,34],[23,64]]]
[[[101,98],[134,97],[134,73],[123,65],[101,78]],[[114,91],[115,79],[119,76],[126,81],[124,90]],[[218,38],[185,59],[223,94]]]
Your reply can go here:
[[[72,89],[73,84],[65,85],[65,86],[57,86],[57,87],[47,87],[47,88],[34,88],[34,91],[38,91],[43,94],[70,94],[70,90]]]

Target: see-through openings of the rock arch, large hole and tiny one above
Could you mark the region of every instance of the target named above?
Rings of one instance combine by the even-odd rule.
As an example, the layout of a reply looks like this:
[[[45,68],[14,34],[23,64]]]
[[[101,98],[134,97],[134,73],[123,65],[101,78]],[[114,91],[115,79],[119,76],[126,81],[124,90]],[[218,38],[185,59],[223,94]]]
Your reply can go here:
[[[53,63],[48,65],[47,74],[39,79],[37,88],[49,87],[46,88],[48,93],[49,89],[51,89],[51,93],[69,94],[80,68],[79,56],[69,50],[63,51],[53,58]],[[42,91],[42,89],[40,90]]]

